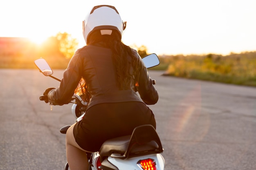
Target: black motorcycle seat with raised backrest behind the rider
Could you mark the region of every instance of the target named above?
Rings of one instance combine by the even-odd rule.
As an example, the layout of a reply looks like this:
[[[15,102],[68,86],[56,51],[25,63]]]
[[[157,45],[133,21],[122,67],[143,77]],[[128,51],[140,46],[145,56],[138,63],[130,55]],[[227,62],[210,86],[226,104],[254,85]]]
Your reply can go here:
[[[105,141],[101,146],[99,154],[102,162],[108,156],[126,159],[128,157],[160,153],[162,151],[162,144],[155,128],[151,125],[142,125],[135,128],[132,135]]]

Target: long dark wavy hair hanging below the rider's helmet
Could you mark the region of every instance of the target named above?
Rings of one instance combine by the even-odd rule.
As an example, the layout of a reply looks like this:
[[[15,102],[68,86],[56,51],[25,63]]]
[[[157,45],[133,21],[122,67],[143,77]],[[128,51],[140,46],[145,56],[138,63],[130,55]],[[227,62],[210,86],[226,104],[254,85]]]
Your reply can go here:
[[[111,35],[101,35],[100,30],[90,33],[87,44],[97,43],[110,48],[112,51],[112,60],[117,77],[116,83],[119,90],[129,90],[131,83],[134,83],[132,86],[135,88],[135,84],[138,82],[138,70],[140,68],[140,60],[136,52],[121,41],[120,34],[115,30],[112,31]],[[81,80],[80,86],[83,87],[82,92],[85,102],[89,102],[91,96],[88,92],[86,82]]]

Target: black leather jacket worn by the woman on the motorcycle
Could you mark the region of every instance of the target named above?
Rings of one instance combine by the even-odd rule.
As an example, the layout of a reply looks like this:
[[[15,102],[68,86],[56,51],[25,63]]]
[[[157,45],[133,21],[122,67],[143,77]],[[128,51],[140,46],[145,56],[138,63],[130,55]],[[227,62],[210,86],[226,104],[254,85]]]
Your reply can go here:
[[[83,77],[92,96],[88,108],[100,103],[113,102],[137,101],[155,104],[158,100],[157,90],[152,84],[146,66],[137,52],[135,50],[134,52],[140,59],[138,67],[141,69],[139,69],[139,87],[137,88],[139,95],[132,85],[130,89],[123,91],[117,87],[110,49],[88,45],[74,53],[64,71],[60,86],[48,93],[49,102],[55,105],[68,104],[81,77]],[[135,83],[131,82],[131,84]]]

